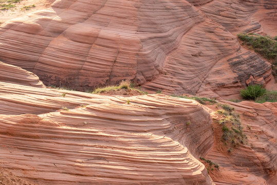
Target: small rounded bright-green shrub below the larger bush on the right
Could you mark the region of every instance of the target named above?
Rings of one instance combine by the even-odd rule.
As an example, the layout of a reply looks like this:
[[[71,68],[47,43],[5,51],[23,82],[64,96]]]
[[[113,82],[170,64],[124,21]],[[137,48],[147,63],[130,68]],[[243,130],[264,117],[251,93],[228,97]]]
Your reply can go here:
[[[246,89],[241,90],[241,95],[246,100],[255,100],[266,93],[266,89],[261,85],[249,85]]]

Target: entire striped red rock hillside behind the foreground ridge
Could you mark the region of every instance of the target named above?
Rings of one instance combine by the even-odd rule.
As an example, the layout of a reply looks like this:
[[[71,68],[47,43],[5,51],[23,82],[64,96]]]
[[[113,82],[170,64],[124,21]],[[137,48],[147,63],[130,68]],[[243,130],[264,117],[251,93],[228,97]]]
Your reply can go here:
[[[233,34],[276,34],[275,9],[258,0],[57,0],[0,26],[0,60],[46,85],[85,90],[130,79],[149,92],[238,98],[250,77],[272,77],[270,63]]]

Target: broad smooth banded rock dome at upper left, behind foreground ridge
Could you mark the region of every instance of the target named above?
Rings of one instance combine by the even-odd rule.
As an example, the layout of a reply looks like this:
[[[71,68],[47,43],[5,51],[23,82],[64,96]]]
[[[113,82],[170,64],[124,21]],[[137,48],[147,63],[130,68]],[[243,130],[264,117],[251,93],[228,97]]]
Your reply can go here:
[[[124,78],[142,84],[201,21],[186,1],[56,1],[0,26],[0,59],[46,85],[85,88]]]

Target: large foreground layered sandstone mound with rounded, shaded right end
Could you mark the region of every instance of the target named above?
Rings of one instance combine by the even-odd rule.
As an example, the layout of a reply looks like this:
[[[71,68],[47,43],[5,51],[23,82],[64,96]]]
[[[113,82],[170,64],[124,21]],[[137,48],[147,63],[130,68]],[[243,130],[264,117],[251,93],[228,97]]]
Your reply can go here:
[[[213,184],[191,155],[212,146],[211,118],[200,104],[164,95],[129,97],[130,104],[89,96],[95,104],[68,111],[0,116],[1,166],[38,184]]]

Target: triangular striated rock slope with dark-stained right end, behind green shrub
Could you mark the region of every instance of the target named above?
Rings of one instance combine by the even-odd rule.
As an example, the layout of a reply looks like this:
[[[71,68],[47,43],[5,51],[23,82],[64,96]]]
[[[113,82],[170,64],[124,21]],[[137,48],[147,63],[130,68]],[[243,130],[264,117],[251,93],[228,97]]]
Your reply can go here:
[[[230,99],[239,96],[251,76],[269,82],[270,72],[268,62],[241,48],[234,35],[208,20],[183,36],[179,47],[168,55],[163,73],[143,87],[165,94]]]

